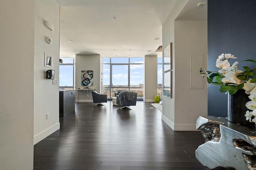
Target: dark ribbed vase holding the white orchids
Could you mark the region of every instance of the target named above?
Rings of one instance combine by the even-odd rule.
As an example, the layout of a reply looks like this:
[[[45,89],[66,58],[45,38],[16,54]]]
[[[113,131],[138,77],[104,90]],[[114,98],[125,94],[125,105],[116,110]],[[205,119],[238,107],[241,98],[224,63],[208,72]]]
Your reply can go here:
[[[244,116],[248,110],[245,106],[250,101],[245,90],[238,90],[235,94],[228,95],[228,121],[241,125],[250,125]]]

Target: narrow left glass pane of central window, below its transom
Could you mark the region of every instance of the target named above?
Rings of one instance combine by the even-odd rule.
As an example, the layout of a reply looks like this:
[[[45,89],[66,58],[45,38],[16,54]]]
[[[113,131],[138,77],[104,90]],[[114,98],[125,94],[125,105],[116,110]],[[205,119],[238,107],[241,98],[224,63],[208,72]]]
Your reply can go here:
[[[102,92],[110,97],[110,64],[103,64],[103,88]]]

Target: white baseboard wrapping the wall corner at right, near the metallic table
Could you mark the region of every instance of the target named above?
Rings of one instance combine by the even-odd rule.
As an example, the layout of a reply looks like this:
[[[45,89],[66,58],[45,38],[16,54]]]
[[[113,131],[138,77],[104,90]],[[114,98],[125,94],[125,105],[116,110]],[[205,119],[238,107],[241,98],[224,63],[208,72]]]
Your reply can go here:
[[[174,124],[164,115],[162,115],[162,120],[174,131],[198,131],[196,124]]]

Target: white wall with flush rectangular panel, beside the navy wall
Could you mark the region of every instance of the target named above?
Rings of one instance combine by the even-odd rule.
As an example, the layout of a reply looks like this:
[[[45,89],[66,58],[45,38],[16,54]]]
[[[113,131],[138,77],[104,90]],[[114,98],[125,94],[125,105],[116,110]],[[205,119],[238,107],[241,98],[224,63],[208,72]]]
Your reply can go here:
[[[174,21],[174,30],[174,130],[196,130],[198,117],[207,115],[207,82],[199,73],[200,67],[206,68],[207,65],[207,21]],[[190,64],[195,65],[192,70]],[[192,79],[191,72],[195,73]],[[201,80],[202,84],[194,83],[191,88],[193,80]]]

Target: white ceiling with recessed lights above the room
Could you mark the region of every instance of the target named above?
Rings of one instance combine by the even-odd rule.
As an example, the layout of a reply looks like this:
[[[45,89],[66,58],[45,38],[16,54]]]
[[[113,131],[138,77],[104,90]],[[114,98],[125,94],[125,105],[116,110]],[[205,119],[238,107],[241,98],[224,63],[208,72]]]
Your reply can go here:
[[[176,0],[56,0],[60,5],[60,58],[162,56],[162,23]],[[200,0],[192,0],[192,6]],[[190,2],[191,3],[191,2]],[[188,3],[189,4],[189,3]],[[188,8],[188,7],[187,7]],[[180,16],[189,20],[188,8]],[[196,9],[196,8],[195,8]],[[206,8],[207,9],[207,8]],[[199,15],[202,16],[202,15]],[[116,19],[114,19],[116,18]],[[207,18],[207,16],[206,16]],[[155,40],[155,38],[160,38]],[[73,42],[69,43],[70,39]],[[148,52],[151,50],[151,52]]]

